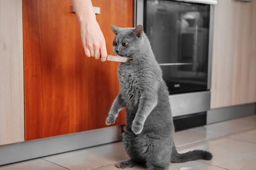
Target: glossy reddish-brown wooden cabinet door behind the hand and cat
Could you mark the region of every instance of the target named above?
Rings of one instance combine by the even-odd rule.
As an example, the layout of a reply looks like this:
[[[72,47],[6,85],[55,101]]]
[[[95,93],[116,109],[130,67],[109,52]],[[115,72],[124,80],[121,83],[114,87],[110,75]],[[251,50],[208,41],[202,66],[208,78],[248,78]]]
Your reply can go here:
[[[132,27],[133,0],[93,0],[113,54],[110,25]],[[119,93],[117,62],[84,54],[70,0],[23,0],[26,140],[107,127]],[[116,125],[125,124],[120,113]]]

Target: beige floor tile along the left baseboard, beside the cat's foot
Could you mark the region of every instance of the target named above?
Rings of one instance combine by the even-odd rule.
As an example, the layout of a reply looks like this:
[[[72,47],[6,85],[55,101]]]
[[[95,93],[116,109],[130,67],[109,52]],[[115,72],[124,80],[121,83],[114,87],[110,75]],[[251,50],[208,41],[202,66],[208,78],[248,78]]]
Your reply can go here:
[[[121,142],[44,157],[71,170],[88,170],[129,159]]]

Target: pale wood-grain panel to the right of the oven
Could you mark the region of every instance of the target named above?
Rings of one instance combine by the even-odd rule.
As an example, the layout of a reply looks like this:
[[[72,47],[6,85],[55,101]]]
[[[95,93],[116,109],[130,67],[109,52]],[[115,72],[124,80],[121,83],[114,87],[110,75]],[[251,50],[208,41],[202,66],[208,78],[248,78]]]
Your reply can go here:
[[[211,108],[256,102],[256,1],[215,7]]]

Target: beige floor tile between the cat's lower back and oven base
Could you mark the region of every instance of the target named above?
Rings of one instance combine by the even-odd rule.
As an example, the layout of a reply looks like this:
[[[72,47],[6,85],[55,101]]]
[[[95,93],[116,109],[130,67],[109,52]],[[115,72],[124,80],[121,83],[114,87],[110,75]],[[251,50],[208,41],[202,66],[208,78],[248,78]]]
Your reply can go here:
[[[216,135],[207,134],[205,132],[196,132],[191,130],[182,130],[175,132],[174,143],[176,147],[193,144],[195,142],[204,141],[216,137]]]

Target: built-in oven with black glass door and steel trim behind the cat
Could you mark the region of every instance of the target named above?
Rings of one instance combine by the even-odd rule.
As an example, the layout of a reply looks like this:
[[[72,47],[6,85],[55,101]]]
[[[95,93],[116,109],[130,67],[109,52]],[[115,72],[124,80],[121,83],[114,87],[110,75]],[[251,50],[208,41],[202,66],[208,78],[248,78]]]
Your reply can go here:
[[[216,3],[216,0],[135,0],[135,25],[144,26],[162,68],[176,130],[206,124]]]

